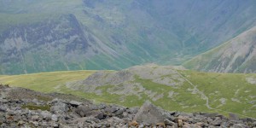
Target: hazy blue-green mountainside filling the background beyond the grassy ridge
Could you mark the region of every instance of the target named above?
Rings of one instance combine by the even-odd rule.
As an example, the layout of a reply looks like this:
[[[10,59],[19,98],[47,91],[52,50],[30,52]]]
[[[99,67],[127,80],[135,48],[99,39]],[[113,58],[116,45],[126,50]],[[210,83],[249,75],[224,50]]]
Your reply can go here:
[[[255,1],[0,3],[2,74],[178,65],[256,23]]]

